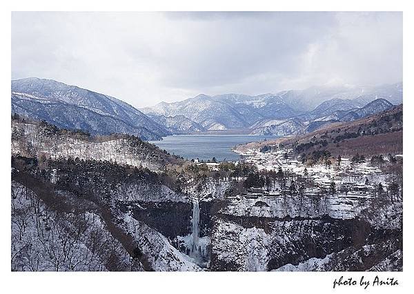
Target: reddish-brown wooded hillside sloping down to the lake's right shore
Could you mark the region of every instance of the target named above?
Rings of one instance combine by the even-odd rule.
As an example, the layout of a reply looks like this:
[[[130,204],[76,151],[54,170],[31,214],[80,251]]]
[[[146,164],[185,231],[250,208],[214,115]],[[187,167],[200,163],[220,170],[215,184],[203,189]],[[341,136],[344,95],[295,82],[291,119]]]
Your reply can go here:
[[[237,146],[239,152],[264,146],[293,148],[297,155],[329,150],[333,155],[402,153],[402,104],[362,119],[335,122],[304,135]]]

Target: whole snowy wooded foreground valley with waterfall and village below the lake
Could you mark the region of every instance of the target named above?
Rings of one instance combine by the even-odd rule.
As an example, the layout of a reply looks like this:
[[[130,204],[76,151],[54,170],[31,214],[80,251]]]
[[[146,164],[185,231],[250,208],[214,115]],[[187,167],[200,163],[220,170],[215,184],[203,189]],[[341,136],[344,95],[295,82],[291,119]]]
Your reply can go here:
[[[400,153],[268,141],[204,164],[19,115],[11,131],[12,271],[402,271]]]

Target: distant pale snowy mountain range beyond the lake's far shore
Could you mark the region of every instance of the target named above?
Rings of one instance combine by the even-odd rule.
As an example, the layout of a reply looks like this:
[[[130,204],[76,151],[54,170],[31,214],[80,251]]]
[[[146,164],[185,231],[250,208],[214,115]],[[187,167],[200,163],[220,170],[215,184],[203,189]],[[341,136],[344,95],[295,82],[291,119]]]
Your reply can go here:
[[[313,124],[314,121],[341,120],[349,111],[363,108],[377,97],[388,97],[393,104],[402,103],[402,83],[377,87],[312,87],[256,96],[198,95],[141,110],[147,115],[184,116],[206,130],[250,128],[254,134],[293,135],[308,125],[312,125],[312,130],[322,125]],[[378,107],[377,112],[384,109]],[[373,108],[369,113],[375,111]],[[364,115],[355,115],[355,119],[358,117]]]

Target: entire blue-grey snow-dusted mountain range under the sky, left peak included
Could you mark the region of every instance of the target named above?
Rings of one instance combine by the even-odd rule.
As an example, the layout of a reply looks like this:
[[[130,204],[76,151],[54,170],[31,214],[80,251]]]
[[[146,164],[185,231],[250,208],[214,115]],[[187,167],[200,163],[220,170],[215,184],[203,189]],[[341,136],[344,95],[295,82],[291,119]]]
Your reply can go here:
[[[375,99],[377,102],[368,106]],[[61,128],[103,135],[128,133],[142,139],[248,128],[253,134],[294,135],[327,122],[358,119],[401,102],[402,83],[398,83],[312,87],[256,96],[201,94],[184,101],[161,102],[141,112],[114,97],[50,79],[12,81],[12,112]]]

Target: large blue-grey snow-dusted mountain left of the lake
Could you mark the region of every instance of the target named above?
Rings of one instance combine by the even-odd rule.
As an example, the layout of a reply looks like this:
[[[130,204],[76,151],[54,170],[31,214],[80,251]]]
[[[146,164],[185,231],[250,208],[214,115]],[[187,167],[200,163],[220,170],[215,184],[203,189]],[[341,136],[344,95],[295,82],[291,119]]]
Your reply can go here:
[[[51,79],[12,81],[12,112],[92,134],[128,133],[142,139],[170,135],[123,101]]]

